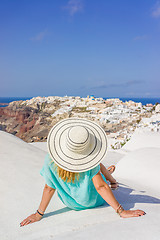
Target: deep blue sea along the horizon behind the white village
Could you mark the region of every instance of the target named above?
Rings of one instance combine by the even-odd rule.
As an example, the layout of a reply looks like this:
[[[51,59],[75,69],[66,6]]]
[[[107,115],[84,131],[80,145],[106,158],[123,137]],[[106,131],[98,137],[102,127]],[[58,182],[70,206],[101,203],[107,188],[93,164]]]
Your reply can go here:
[[[6,105],[0,105],[0,107],[6,107],[8,103],[13,102],[13,101],[20,101],[20,100],[27,100],[31,99],[32,97],[0,97],[0,103],[7,103]],[[115,98],[115,97],[103,97],[103,99],[107,98]],[[133,97],[116,97],[122,100],[123,102],[132,100],[134,102],[141,102],[142,105],[146,105],[147,103],[152,103],[153,105],[156,103],[160,103],[160,97],[159,98],[133,98]]]

